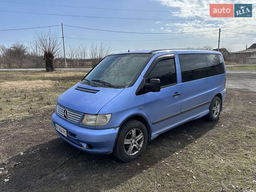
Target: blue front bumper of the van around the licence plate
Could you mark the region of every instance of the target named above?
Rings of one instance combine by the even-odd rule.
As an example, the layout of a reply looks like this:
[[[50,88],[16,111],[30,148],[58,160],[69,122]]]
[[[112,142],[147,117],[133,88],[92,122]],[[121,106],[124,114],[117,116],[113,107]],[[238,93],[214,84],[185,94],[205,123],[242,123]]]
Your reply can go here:
[[[67,129],[67,137],[56,130],[56,125]],[[56,133],[74,147],[93,154],[108,154],[113,151],[119,127],[110,129],[86,129],[78,127],[56,113],[52,115],[52,125]]]

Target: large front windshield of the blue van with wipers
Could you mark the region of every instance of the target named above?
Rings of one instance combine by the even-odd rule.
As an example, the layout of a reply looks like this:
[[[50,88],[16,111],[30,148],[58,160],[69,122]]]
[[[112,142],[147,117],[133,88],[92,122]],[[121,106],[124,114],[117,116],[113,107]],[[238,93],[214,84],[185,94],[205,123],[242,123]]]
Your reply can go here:
[[[98,87],[129,87],[138,78],[151,56],[150,53],[110,55],[100,61],[81,83]]]

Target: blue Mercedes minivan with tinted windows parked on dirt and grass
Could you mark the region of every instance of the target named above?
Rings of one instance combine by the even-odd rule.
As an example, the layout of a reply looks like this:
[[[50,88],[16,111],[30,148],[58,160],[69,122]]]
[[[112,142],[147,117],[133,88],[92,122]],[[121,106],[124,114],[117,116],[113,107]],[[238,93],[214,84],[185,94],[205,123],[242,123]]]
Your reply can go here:
[[[188,121],[219,118],[226,71],[220,52],[110,54],[57,99],[52,125],[71,145],[129,162],[148,141]]]

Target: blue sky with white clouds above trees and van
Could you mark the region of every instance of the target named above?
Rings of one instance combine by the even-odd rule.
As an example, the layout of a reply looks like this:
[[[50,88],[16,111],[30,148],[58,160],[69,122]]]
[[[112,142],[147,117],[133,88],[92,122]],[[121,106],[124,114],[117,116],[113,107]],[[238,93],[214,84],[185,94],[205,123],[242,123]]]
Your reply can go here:
[[[0,30],[52,26],[63,23],[65,47],[68,48],[69,46],[79,44],[90,46],[92,43],[99,44],[103,42],[106,46],[110,47],[111,53],[125,52],[128,51],[128,49],[130,51],[180,49],[188,47],[198,48],[204,45],[217,48],[219,28],[223,28],[224,30],[237,30],[235,32],[238,32],[221,31],[220,47],[230,46],[232,51],[239,51],[244,50],[246,44],[248,44],[249,47],[252,43],[256,43],[256,16],[254,15],[256,11],[256,0],[247,2],[248,4],[252,4],[252,18],[212,18],[209,15],[210,3],[227,4],[244,2],[218,0],[0,0]],[[63,7],[63,5],[72,7]],[[61,15],[44,15],[38,13]],[[137,19],[113,19],[113,17]],[[140,19],[138,20],[138,18]],[[141,20],[141,18],[153,20]],[[181,34],[116,33],[73,28],[65,25],[124,32]],[[36,31],[39,30],[47,31],[48,28],[0,31],[0,45],[3,44],[9,47],[15,41],[24,41],[22,43],[27,44],[28,42],[25,41],[33,40]],[[51,27],[50,30],[52,32],[58,32],[59,36],[62,36],[61,26]],[[246,30],[248,32],[239,32],[238,30]],[[197,31],[208,32],[195,33]],[[182,34],[182,32],[186,33]]]

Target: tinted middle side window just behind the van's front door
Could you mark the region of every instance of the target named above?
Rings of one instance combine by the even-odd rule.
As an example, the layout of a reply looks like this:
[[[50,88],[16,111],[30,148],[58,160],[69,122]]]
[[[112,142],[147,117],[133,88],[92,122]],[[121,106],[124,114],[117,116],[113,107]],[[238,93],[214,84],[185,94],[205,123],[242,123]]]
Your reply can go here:
[[[179,54],[182,83],[207,77],[204,54]]]

